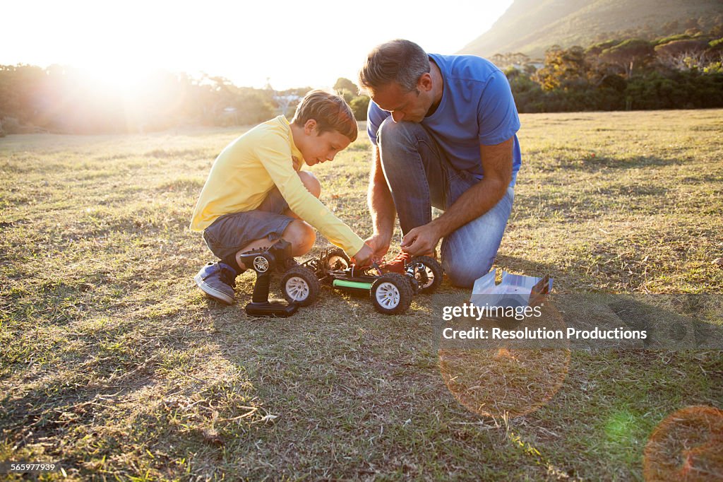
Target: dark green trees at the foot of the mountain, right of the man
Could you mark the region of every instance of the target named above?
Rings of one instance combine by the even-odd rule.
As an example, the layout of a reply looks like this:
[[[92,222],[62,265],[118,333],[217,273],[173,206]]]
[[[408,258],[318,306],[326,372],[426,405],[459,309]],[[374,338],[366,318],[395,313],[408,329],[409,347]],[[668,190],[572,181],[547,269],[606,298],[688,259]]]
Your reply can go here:
[[[723,25],[654,40],[552,46],[543,62],[497,54],[521,112],[723,107]]]

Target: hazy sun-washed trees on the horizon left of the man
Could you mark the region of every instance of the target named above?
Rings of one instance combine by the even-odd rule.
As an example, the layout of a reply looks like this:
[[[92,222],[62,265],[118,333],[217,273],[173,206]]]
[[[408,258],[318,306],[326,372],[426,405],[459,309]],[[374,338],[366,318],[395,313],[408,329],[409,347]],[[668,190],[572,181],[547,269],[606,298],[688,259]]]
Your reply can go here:
[[[346,82],[344,82],[346,81]],[[338,88],[366,117],[368,99]],[[353,85],[353,84],[352,84]],[[0,65],[0,135],[59,132],[153,132],[184,125],[257,124],[278,114],[291,117],[311,87],[275,90],[238,87],[225,77],[156,71],[136,88],[111,88],[87,73],[53,65]],[[346,89],[346,90],[345,90]]]

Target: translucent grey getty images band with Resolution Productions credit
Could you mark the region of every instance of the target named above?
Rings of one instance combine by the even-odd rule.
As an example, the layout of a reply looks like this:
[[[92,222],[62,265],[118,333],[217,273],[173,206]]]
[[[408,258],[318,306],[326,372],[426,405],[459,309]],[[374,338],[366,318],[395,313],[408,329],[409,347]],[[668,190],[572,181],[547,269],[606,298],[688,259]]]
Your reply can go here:
[[[721,295],[547,295],[533,306],[490,301],[442,306],[435,326],[440,347],[723,349]]]

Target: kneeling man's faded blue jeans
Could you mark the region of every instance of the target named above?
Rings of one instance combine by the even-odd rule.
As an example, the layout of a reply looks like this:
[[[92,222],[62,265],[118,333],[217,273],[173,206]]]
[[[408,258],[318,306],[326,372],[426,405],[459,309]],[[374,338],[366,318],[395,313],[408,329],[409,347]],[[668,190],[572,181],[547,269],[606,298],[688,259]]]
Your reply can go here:
[[[432,221],[432,206],[447,210],[462,193],[479,182],[451,166],[432,135],[414,122],[382,122],[377,142],[382,169],[403,233]],[[492,209],[442,241],[442,268],[455,286],[471,287],[495,261],[512,211],[512,187]]]

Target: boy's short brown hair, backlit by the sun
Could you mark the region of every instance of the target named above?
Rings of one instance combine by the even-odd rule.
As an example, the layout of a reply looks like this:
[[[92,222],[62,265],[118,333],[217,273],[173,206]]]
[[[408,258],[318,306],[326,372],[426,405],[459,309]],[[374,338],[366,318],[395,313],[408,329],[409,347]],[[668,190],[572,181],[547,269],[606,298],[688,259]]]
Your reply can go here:
[[[348,140],[356,140],[356,119],[351,107],[340,96],[325,90],[312,90],[299,102],[292,124],[303,127],[309,119],[317,122],[317,132],[337,131]]]

